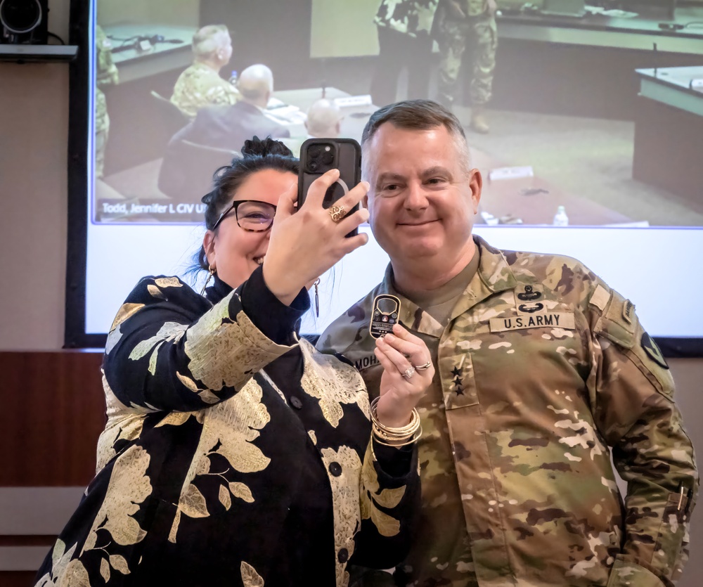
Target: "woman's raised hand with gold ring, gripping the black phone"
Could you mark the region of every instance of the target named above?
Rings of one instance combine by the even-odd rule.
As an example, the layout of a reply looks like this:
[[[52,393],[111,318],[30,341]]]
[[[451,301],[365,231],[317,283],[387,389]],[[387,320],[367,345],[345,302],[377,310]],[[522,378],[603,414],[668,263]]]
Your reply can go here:
[[[337,169],[330,169],[318,177],[297,211],[297,184],[292,184],[278,200],[263,271],[269,290],[286,305],[345,254],[368,242],[366,233],[346,237],[368,220],[367,209],[360,208],[335,221],[331,209],[323,207],[325,193],[339,176]],[[350,210],[367,191],[368,183],[362,181],[337,200],[335,206]]]

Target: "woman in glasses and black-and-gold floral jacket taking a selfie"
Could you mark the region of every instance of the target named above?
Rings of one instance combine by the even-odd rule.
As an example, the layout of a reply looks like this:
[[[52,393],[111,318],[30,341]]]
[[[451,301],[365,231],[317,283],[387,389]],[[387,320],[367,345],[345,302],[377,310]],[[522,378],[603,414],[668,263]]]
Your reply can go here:
[[[269,138],[242,153],[203,198],[213,285],[198,295],[143,278],[115,318],[98,475],[39,585],[344,586],[352,555],[379,568],[404,555],[429,352],[402,328],[379,342],[369,442],[359,374],[295,331],[305,286],[366,243],[344,235],[368,211],[335,221],[322,207],[328,172],[295,212],[290,150]]]

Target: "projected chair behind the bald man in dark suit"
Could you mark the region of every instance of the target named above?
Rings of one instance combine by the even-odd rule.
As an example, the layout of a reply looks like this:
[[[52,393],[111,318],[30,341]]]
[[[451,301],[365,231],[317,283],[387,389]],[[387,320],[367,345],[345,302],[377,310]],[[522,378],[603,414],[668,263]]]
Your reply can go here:
[[[212,189],[212,174],[241,157],[236,151],[172,139],[159,171],[159,189],[176,202],[199,203]]]

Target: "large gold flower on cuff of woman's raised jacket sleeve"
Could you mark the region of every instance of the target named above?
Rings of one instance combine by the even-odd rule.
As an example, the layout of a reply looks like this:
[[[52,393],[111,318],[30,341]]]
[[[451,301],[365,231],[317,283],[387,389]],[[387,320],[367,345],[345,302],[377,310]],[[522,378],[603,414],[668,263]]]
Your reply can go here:
[[[191,375],[214,391],[240,387],[253,373],[291,349],[266,338],[243,311],[232,322],[229,302],[233,295],[193,324],[185,342]],[[232,356],[237,360],[232,361]]]

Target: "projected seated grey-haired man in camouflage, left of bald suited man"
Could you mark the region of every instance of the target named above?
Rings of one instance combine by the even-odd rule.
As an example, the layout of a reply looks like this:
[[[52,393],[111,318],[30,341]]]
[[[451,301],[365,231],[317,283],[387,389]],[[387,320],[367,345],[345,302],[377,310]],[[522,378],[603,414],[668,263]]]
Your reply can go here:
[[[204,106],[232,105],[240,98],[236,87],[219,71],[232,57],[232,39],[225,25],[207,25],[193,35],[193,65],[176,80],[171,101],[193,120]]]

